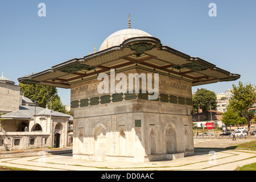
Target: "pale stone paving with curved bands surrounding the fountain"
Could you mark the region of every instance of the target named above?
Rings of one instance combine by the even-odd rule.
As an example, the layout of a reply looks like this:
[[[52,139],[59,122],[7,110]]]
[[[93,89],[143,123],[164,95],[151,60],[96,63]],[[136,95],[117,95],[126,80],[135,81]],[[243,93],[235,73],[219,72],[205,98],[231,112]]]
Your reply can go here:
[[[27,168],[39,171],[233,171],[238,166],[256,163],[256,151],[226,150],[225,148],[249,141],[249,139],[237,139],[233,141],[232,139],[194,138],[195,155],[175,160],[160,160],[144,163],[90,162],[87,160],[73,159],[72,154],[46,155],[47,152],[34,151],[34,156],[27,154],[23,158],[0,159],[0,166]]]

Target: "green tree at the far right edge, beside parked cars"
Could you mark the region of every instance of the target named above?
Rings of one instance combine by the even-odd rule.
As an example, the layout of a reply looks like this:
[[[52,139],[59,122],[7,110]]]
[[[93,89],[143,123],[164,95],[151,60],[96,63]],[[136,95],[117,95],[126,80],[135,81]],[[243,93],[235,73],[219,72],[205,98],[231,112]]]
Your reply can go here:
[[[240,81],[238,86],[233,84],[233,96],[230,99],[229,105],[234,111],[241,111],[242,116],[246,119],[248,124],[248,137],[250,137],[250,120],[251,114],[249,109],[256,101],[256,92],[254,86],[245,84]]]

